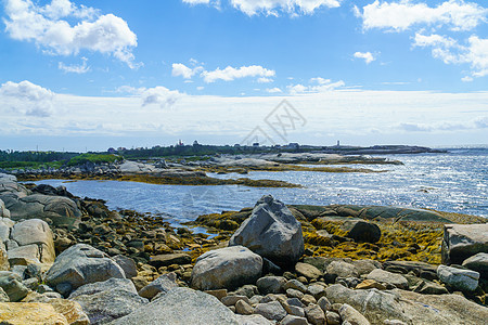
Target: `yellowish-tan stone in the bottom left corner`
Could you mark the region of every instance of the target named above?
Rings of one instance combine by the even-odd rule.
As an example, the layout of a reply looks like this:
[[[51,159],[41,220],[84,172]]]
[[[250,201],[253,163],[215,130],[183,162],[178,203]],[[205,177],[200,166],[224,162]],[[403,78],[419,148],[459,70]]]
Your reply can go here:
[[[5,325],[69,324],[62,313],[55,311],[54,307],[40,302],[1,302],[0,323]]]

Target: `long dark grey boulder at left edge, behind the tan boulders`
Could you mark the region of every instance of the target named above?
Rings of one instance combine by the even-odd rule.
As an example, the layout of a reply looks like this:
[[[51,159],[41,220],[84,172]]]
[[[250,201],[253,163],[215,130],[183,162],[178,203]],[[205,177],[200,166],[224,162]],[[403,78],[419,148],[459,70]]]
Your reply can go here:
[[[12,220],[50,219],[55,225],[73,225],[79,221],[81,211],[76,203],[64,196],[33,194],[0,196],[10,210]]]

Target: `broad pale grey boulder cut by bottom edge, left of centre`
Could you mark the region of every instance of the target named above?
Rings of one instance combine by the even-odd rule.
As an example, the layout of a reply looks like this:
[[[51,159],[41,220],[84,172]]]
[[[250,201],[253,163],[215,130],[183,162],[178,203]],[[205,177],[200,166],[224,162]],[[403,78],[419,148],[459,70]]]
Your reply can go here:
[[[237,325],[236,315],[216,297],[189,288],[175,288],[114,325]]]

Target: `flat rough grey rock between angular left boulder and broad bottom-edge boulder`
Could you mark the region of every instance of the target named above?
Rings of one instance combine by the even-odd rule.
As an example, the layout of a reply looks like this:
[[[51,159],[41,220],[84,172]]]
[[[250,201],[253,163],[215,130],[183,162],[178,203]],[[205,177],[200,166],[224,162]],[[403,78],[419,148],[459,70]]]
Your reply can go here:
[[[80,295],[70,300],[81,306],[91,324],[106,324],[149,303],[147,299],[120,289]]]

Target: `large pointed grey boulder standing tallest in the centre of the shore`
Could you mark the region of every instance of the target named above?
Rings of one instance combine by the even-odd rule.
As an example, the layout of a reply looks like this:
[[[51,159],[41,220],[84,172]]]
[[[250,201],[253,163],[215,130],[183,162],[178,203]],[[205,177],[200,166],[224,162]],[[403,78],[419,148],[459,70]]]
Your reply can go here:
[[[291,269],[305,250],[301,224],[286,206],[262,196],[253,213],[235,231],[229,246],[242,245],[273,263]]]

